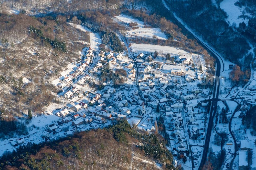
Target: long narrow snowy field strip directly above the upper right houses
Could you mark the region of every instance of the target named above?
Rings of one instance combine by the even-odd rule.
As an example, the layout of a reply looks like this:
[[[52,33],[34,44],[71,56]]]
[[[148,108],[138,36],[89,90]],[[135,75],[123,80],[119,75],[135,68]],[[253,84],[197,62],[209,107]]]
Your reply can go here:
[[[178,48],[169,47],[169,46],[161,46],[161,45],[151,45],[151,44],[135,44],[131,45],[131,49],[133,52],[152,52],[163,50],[163,53],[170,53],[171,55],[184,55],[188,54],[188,52],[184,50],[180,50]]]

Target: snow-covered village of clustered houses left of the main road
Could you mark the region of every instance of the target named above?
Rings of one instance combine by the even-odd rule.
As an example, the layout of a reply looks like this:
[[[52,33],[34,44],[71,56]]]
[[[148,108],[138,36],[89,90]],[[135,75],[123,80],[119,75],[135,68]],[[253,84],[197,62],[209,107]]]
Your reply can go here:
[[[93,46],[83,48],[81,60],[52,82],[66,105],[33,118],[31,124],[41,124],[40,129],[5,148],[13,150],[31,141],[40,143],[103,128],[116,119],[127,119],[132,127],[155,133],[156,119],[161,118],[173,155],[191,166],[189,154],[200,159],[210,90],[197,87],[206,76],[202,56],[175,50],[177,54],[167,53],[169,62],[158,52],[113,53]],[[103,70],[113,75],[102,76]]]

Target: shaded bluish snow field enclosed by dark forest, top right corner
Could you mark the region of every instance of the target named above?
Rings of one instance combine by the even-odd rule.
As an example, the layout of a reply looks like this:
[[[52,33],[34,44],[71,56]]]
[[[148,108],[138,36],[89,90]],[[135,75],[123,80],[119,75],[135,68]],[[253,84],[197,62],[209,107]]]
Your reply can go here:
[[[235,23],[238,27],[240,22],[244,21],[246,24],[248,23],[248,19],[239,18],[239,16],[243,15],[243,13],[248,16],[250,16],[250,14],[247,14],[243,7],[240,8],[234,5],[236,2],[237,0],[224,0],[220,3],[220,8],[228,14],[227,21],[230,22],[230,25]]]

